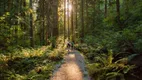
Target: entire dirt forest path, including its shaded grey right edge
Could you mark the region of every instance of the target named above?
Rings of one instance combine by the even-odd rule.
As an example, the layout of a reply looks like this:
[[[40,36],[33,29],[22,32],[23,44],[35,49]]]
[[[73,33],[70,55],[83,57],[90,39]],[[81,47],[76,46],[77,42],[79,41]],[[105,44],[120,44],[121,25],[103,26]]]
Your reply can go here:
[[[53,74],[51,80],[90,80],[84,58],[78,51],[71,50],[64,58],[65,63]]]

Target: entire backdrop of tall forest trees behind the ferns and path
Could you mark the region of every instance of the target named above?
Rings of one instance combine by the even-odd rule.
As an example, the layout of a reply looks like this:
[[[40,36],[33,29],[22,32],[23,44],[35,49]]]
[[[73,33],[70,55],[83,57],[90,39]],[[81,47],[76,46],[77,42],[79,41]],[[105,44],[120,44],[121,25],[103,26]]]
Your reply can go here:
[[[110,39],[119,43],[116,46],[125,44],[125,48],[129,46],[136,52],[141,43],[137,37],[141,35],[140,3],[141,0],[4,0],[0,3],[0,45],[3,49],[48,44],[56,47],[61,34],[64,41],[93,40],[92,43],[112,47],[114,44],[107,44]],[[130,32],[138,39],[128,37]]]

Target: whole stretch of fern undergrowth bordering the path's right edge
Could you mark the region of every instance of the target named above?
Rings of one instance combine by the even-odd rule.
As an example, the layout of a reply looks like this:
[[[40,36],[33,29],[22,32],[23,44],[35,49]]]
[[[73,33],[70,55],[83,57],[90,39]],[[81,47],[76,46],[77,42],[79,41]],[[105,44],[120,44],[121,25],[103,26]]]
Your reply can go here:
[[[78,45],[77,49],[85,55],[88,73],[92,80],[126,80],[125,75],[136,68],[129,65],[129,57],[115,59],[116,53],[100,47],[87,44]]]

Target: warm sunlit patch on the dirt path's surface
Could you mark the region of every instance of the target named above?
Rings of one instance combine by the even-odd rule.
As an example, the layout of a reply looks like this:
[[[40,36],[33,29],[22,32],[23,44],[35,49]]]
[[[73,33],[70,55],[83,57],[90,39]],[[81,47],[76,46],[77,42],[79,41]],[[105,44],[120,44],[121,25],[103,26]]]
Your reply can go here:
[[[55,72],[51,80],[83,80],[83,74],[77,61],[76,54],[67,55],[65,63]]]

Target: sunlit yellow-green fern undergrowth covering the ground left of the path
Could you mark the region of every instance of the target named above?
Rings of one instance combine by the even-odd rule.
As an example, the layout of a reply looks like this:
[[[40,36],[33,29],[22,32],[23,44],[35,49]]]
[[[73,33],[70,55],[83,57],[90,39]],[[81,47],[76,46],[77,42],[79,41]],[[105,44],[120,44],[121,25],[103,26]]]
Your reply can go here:
[[[48,80],[64,56],[63,49],[50,46],[17,49],[0,54],[1,80]]]

